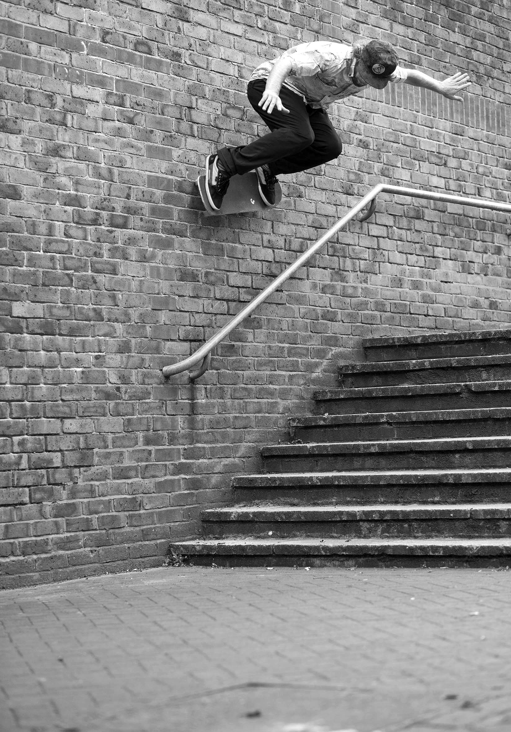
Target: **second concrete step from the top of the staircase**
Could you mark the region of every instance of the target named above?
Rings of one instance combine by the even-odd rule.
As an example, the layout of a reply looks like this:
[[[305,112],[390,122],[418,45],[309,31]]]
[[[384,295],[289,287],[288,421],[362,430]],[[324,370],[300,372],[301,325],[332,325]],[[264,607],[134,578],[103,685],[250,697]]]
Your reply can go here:
[[[349,389],[359,386],[509,381],[511,354],[344,364],[338,367],[338,371],[341,384]]]

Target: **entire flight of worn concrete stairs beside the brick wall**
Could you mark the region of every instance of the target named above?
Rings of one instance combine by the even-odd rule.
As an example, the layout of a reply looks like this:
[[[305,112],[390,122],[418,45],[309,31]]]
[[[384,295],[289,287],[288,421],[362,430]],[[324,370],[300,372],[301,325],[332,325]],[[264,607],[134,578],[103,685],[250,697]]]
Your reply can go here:
[[[224,566],[511,565],[511,329],[377,338],[234,507],[173,545]]]

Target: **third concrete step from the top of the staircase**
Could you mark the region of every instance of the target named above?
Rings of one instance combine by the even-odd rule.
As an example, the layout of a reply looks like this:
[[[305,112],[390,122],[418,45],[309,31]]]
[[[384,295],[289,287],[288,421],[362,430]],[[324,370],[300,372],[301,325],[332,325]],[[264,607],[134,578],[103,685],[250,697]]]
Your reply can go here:
[[[511,381],[321,389],[313,398],[327,414],[511,407]]]

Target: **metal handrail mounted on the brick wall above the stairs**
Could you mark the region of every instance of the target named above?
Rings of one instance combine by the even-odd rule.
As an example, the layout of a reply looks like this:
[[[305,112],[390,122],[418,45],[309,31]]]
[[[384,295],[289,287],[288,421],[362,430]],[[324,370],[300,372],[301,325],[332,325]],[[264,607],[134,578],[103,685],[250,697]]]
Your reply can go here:
[[[209,338],[209,340],[207,340],[206,343],[201,346],[201,348],[198,348],[198,350],[195,351],[194,354],[188,356],[187,359],[184,359],[184,361],[163,367],[163,376],[168,377],[174,376],[174,374],[176,373],[182,373],[182,371],[186,371],[187,369],[195,366],[199,362],[202,362],[201,367],[190,373],[190,381],[195,381],[196,378],[202,376],[209,367],[209,362],[213,349],[222,340],[224,340],[224,338],[229,335],[231,331],[237,328],[237,326],[239,326],[239,324],[242,323],[245,318],[250,315],[250,313],[253,313],[255,308],[258,307],[258,305],[261,305],[261,302],[264,302],[273,292],[275,292],[275,290],[278,290],[278,288],[280,288],[280,285],[283,285],[283,283],[285,283],[286,280],[291,277],[291,275],[294,275],[294,272],[296,272],[297,269],[300,269],[300,267],[304,266],[305,262],[310,259],[314,254],[316,254],[316,252],[321,249],[323,244],[328,242],[329,239],[332,239],[332,236],[335,236],[335,234],[337,234],[337,231],[340,231],[340,229],[346,226],[346,224],[353,220],[354,217],[356,217],[357,214],[362,212],[365,208],[368,208],[368,211],[364,214],[361,214],[359,220],[367,220],[376,209],[376,197],[380,193],[406,195],[411,198],[428,198],[431,201],[458,203],[460,206],[477,206],[480,209],[493,209],[495,211],[503,211],[511,214],[511,203],[496,203],[495,201],[490,201],[488,199],[485,200],[484,198],[468,198],[462,195],[436,193],[434,191],[419,190],[417,188],[401,188],[400,186],[380,183],[375,186],[373,190],[370,190],[368,195],[365,195],[365,197],[362,198],[362,201],[357,203],[357,206],[354,206],[346,214],[346,216],[337,221],[337,223],[332,226],[332,228],[330,228],[326,234],[323,234],[323,236],[321,236],[317,240],[317,242],[315,242],[313,246],[310,247],[310,249],[307,249],[307,251],[302,253],[302,255],[300,255],[299,258],[296,259],[296,261],[288,267],[288,269],[285,269],[284,272],[281,272],[280,275],[275,280],[273,280],[271,284],[268,285],[268,287],[261,291],[261,293],[258,294],[258,296],[255,297],[253,301],[250,302],[246,307],[244,307],[243,310],[241,310],[227,325],[223,326],[223,328],[219,330],[216,335]]]

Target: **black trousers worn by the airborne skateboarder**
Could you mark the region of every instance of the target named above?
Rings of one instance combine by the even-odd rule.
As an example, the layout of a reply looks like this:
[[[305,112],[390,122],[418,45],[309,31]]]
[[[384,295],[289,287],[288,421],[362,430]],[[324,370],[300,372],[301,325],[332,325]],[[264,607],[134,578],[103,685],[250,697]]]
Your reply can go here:
[[[276,107],[268,114],[258,107],[264,89],[265,79],[250,81],[247,94],[271,132],[249,145],[218,151],[220,161],[231,175],[243,175],[264,164],[269,165],[275,176],[298,173],[328,163],[341,154],[343,144],[324,109],[310,107],[302,97],[283,86],[280,100],[289,114],[279,112]]]

